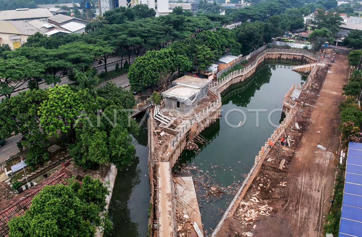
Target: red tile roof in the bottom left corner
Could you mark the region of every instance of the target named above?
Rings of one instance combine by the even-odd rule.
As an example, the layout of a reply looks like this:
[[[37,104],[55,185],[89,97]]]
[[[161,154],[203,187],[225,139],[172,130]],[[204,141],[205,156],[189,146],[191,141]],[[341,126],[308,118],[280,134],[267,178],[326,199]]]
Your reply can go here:
[[[59,172],[50,175],[34,187],[25,190],[8,203],[0,206],[0,237],[8,237],[8,221],[10,221],[14,216],[23,215],[25,211],[29,209],[31,200],[33,200],[34,196],[37,195],[45,185],[51,186],[58,183],[67,185],[66,180],[72,178],[73,175],[74,174],[71,171],[62,168]]]

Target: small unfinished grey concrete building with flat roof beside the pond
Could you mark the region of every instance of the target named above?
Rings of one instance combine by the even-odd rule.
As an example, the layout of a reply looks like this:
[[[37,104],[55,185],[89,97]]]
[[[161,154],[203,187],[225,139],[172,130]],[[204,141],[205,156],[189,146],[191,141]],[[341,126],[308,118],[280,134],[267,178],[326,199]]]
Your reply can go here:
[[[183,76],[172,82],[172,87],[161,93],[165,97],[165,108],[178,114],[188,114],[197,102],[207,96],[209,79]]]

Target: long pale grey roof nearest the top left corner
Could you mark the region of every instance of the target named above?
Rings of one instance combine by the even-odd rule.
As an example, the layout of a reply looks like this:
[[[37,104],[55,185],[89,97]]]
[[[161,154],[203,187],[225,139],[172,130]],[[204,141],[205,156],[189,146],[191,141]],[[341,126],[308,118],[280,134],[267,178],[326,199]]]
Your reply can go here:
[[[47,18],[53,14],[45,8],[35,8],[28,10],[7,10],[0,11],[0,20],[18,20],[18,19],[34,19]]]

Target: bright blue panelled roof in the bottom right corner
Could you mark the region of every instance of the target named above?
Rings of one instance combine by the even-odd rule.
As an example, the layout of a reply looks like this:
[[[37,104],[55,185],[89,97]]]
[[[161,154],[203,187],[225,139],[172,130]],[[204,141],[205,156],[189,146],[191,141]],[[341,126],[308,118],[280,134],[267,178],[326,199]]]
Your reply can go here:
[[[339,237],[362,233],[362,143],[348,145]]]

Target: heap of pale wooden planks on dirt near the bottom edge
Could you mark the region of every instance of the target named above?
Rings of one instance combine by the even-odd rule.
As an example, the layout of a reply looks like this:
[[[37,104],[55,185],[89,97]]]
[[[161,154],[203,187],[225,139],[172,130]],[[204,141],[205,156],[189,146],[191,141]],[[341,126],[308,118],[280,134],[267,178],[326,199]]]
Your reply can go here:
[[[258,219],[258,216],[270,216],[270,212],[273,210],[269,207],[267,202],[264,202],[258,197],[260,192],[252,194],[249,200],[241,200],[239,209],[237,210],[237,219],[240,220],[240,224],[243,227],[247,227],[248,224],[253,225],[253,222]],[[254,227],[255,228],[255,225]]]

